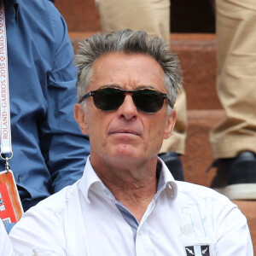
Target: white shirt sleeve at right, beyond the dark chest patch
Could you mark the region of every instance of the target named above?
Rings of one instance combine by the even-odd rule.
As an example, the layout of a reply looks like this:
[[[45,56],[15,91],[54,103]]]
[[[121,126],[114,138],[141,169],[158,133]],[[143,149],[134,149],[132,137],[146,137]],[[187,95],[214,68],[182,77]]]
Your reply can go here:
[[[253,256],[253,244],[247,225],[247,218],[230,202],[218,216],[217,256]]]

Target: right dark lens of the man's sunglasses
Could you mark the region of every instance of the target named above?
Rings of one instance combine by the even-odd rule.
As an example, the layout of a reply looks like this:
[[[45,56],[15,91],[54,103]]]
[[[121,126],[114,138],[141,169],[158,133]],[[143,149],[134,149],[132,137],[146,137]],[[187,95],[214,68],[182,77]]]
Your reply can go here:
[[[137,90],[132,98],[136,107],[145,113],[159,111],[164,103],[164,97],[155,90]]]

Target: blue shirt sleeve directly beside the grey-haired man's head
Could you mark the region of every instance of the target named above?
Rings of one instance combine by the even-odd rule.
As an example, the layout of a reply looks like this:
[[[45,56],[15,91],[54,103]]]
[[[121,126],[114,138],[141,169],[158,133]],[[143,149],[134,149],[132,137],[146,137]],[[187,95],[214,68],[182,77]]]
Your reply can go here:
[[[73,105],[77,102],[76,69],[67,25],[54,6],[51,17],[55,49],[53,67],[48,74],[48,113],[40,126],[40,146],[52,179],[50,190],[55,193],[82,176],[90,143],[73,115]]]

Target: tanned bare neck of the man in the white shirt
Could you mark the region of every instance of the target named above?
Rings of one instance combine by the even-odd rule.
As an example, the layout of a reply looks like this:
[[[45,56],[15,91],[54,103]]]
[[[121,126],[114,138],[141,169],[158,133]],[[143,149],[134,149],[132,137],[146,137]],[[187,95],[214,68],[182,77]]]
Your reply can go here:
[[[102,182],[113,193],[116,200],[120,201],[140,221],[157,190],[157,157],[138,165],[109,166],[104,163],[98,167],[99,161],[96,163],[91,160]]]

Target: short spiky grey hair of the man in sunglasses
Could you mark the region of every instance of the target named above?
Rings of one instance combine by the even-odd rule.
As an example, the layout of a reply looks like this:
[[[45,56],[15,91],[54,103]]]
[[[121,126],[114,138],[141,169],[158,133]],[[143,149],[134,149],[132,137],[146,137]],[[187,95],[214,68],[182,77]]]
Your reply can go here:
[[[102,55],[114,52],[152,56],[164,71],[163,79],[173,108],[177,90],[182,84],[177,56],[172,54],[162,39],[149,36],[143,31],[134,32],[129,29],[119,32],[97,33],[79,44],[79,49],[75,55],[75,63],[78,67],[76,87],[79,100],[84,96],[86,87],[90,83],[93,63]]]

